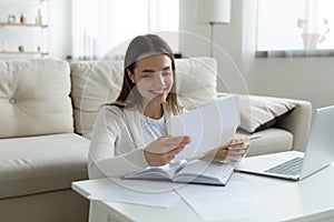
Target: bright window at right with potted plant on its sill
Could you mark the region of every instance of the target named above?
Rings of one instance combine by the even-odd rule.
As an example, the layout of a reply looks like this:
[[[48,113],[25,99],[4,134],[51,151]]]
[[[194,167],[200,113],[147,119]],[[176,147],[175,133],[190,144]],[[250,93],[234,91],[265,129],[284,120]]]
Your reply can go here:
[[[257,51],[334,49],[333,0],[258,0]]]

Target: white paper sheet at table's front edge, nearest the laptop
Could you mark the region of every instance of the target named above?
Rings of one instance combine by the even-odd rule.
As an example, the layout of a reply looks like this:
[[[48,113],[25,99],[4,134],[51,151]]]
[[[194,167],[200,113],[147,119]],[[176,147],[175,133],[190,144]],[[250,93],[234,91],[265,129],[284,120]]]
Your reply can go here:
[[[176,192],[205,221],[262,218],[272,214],[263,200],[246,192],[243,182],[230,181],[227,186],[188,184]]]

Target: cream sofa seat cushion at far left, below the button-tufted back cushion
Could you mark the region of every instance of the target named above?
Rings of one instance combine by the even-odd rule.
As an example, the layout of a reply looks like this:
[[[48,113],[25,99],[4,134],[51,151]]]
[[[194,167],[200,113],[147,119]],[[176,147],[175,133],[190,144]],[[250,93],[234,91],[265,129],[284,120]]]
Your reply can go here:
[[[75,133],[0,140],[0,199],[69,189],[88,179],[88,147]]]

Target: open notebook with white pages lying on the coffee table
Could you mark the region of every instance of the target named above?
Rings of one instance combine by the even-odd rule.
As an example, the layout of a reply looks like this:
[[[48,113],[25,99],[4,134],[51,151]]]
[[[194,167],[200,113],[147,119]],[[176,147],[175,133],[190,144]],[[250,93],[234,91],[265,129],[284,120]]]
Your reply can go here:
[[[204,160],[193,160],[187,163],[186,160],[183,160],[164,167],[149,167],[143,171],[126,175],[124,179],[167,180],[180,183],[226,185],[234,168],[234,163],[208,162]]]

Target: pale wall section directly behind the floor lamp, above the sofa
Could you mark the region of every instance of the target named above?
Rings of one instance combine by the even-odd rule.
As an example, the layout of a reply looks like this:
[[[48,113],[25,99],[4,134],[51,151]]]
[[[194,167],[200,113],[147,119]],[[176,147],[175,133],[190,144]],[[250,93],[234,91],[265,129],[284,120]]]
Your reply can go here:
[[[234,3],[234,2],[233,2]],[[247,93],[240,61],[240,17],[232,13],[230,24],[214,27],[214,57],[218,60],[219,81],[222,91]],[[180,1],[180,51],[190,57],[210,56],[210,27],[196,22],[196,1]]]

